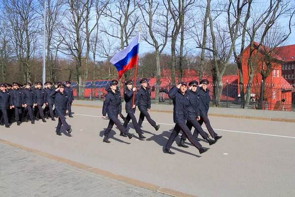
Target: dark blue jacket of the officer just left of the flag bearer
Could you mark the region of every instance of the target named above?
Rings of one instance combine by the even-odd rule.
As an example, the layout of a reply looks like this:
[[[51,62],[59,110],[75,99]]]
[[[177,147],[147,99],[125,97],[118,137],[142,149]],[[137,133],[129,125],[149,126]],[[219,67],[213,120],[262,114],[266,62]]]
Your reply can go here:
[[[118,114],[122,112],[122,103],[120,94],[115,94],[113,91],[109,92],[103,101],[102,115],[109,118],[118,118]]]

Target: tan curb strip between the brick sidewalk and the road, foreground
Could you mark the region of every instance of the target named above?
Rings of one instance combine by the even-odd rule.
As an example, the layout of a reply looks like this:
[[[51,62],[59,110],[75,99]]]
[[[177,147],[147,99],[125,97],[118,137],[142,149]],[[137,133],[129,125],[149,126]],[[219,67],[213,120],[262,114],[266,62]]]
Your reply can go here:
[[[151,190],[151,191],[154,191],[154,192],[167,194],[167,195],[170,195],[170,196],[173,196],[173,197],[197,197],[197,196],[185,194],[185,193],[182,193],[182,192],[178,192],[178,191],[175,191],[175,190],[171,190],[171,189],[168,189],[168,188],[161,188],[160,186],[153,185],[153,184],[143,182],[143,181],[139,181],[139,180],[129,178],[129,177],[126,177],[126,176],[113,174],[112,172],[108,172],[108,171],[105,171],[105,170],[102,170],[102,169],[93,168],[93,167],[91,167],[89,165],[74,162],[74,161],[71,161],[71,160],[68,160],[68,159],[65,159],[65,158],[61,158],[61,157],[58,157],[58,156],[55,156],[55,155],[51,155],[49,153],[44,153],[42,151],[38,151],[36,149],[32,149],[32,148],[22,146],[22,145],[13,143],[13,142],[9,142],[9,141],[4,140],[4,139],[0,139],[0,143],[4,143],[4,144],[10,145],[10,146],[13,146],[15,148],[19,148],[19,149],[28,151],[30,153],[38,154],[38,155],[43,156],[43,157],[48,158],[48,159],[53,159],[53,160],[56,160],[58,162],[62,162],[64,164],[69,164],[69,165],[72,165],[74,167],[84,169],[84,170],[87,170],[89,172],[93,172],[95,174],[99,174],[99,175],[106,176],[106,177],[109,177],[109,178],[112,178],[112,179],[115,179],[115,180],[118,180],[118,181],[129,183],[131,185],[138,186],[138,187],[141,187],[141,188],[145,188],[145,189],[148,189],[148,190]]]

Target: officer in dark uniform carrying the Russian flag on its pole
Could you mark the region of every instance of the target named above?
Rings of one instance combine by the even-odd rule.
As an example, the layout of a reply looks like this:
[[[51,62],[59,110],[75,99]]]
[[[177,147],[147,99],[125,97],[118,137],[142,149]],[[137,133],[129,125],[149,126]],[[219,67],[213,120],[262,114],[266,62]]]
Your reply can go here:
[[[135,115],[134,115],[135,110],[136,110],[136,105],[138,104],[137,94],[134,94],[136,88],[133,87],[133,82],[132,82],[131,79],[128,80],[125,83],[125,85],[126,85],[126,89],[124,90],[124,100],[126,102],[125,110],[126,110],[126,113],[127,113],[127,117],[126,117],[126,120],[124,121],[123,126],[127,129],[127,125],[129,123],[129,121],[132,120],[132,124],[134,126],[135,131],[138,133],[139,138],[140,139],[145,139],[146,137],[143,136],[143,131],[141,131],[140,127],[138,126],[137,120],[136,120]],[[133,96],[135,96],[134,104],[133,104]]]

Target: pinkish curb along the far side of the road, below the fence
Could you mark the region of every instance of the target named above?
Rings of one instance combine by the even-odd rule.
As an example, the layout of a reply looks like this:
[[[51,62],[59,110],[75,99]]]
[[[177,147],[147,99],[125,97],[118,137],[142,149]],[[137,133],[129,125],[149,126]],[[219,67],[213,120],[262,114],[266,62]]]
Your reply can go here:
[[[102,108],[102,106],[84,105],[84,104],[72,104],[72,106]],[[125,108],[122,108],[122,109],[125,109]],[[171,111],[171,110],[155,110],[155,109],[151,109],[150,111],[151,112],[159,112],[159,113],[170,113],[170,114],[173,113],[173,111]],[[249,120],[263,120],[263,121],[295,123],[295,119],[284,119],[284,118],[263,118],[263,117],[237,116],[237,115],[228,115],[228,114],[208,114],[208,116],[222,117],[222,118],[238,118],[238,119],[249,119]]]

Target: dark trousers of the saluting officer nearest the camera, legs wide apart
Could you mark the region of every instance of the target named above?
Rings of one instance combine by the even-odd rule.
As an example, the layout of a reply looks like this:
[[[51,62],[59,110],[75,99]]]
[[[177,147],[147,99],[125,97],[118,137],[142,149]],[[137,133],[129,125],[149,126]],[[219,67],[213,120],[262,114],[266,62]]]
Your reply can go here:
[[[193,137],[190,129],[188,129],[188,127],[186,126],[185,123],[176,123],[175,127],[174,127],[174,130],[172,131],[169,139],[168,139],[168,142],[166,143],[166,146],[165,148],[166,149],[170,149],[173,142],[175,141],[175,138],[177,137],[179,131],[182,131],[187,139],[197,148],[197,149],[200,149],[202,148],[202,145],[200,144],[200,142],[198,142],[198,140]]]

